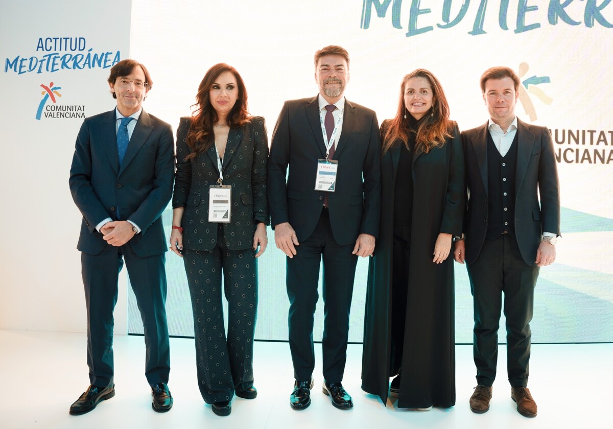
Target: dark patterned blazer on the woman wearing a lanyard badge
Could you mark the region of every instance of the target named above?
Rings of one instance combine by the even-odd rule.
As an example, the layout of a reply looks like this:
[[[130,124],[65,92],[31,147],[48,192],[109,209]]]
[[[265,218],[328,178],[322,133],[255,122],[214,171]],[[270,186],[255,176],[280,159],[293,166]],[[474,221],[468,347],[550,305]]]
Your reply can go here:
[[[172,207],[185,207],[181,226],[186,249],[211,251],[217,244],[217,225],[208,222],[208,190],[217,184],[215,145],[205,153],[185,161],[191,153],[186,138],[191,118],[181,118],[177,129],[177,174]],[[268,224],[266,163],[268,137],[264,118],[230,128],[221,169],[223,184],[232,185],[230,222],[223,223],[226,246],[230,250],[249,249],[257,222]]]

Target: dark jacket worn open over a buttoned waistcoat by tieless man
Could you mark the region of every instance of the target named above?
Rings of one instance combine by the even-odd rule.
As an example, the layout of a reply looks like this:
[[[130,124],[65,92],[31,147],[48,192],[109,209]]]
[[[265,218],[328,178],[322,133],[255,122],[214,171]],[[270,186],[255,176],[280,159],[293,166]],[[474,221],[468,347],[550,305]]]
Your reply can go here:
[[[462,132],[468,203],[464,220],[466,262],[472,264],[487,232],[487,123]],[[543,231],[560,235],[560,184],[551,134],[517,119],[515,232],[522,258],[535,265]],[[540,200],[539,200],[540,196]]]

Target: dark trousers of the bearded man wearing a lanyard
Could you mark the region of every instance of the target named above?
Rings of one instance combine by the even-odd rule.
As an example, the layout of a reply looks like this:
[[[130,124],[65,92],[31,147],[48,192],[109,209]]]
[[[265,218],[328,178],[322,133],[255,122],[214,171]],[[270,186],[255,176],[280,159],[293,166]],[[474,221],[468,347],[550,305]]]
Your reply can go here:
[[[296,246],[297,254],[287,257],[287,297],[289,297],[289,348],[294,378],[307,381],[313,374],[313,316],[319,299],[319,265],[323,258],[324,335],[323,373],[329,383],[343,380],[347,359],[349,311],[356,275],[354,243],[341,246],[332,237],[330,218],[322,210],[313,234]]]

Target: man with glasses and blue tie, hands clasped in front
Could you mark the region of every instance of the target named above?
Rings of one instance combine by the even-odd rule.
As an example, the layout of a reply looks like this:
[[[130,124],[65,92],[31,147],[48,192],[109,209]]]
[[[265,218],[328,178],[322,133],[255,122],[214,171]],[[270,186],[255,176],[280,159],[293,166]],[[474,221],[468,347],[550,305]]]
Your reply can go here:
[[[113,308],[124,259],[145,328],[151,406],[158,412],[172,407],[161,214],[172,195],[173,137],[169,124],[142,108],[151,85],[143,64],[132,59],[115,64],[109,86],[117,107],[87,118],[77,136],[69,184],[83,214],[77,249],[82,252],[90,385],[70,414],[91,411],[115,395]]]

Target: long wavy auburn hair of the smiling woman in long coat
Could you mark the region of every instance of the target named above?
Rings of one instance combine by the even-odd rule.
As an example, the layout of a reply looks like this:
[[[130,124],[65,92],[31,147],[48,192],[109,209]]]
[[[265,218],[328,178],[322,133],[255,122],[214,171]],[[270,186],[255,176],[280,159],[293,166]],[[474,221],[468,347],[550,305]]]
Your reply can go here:
[[[428,153],[432,148],[440,147],[445,144],[445,139],[451,137],[453,121],[449,120],[449,104],[443,92],[443,86],[438,79],[426,69],[416,69],[402,78],[400,84],[400,99],[398,100],[398,111],[396,116],[383,130],[383,153],[386,153],[397,140],[407,145],[409,129],[408,118],[410,115],[405,106],[405,87],[409,79],[423,77],[432,87],[433,102],[430,112],[424,115],[417,127],[415,150],[422,150]],[[408,146],[407,146],[408,148]]]

